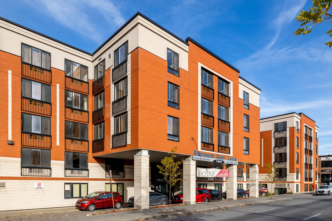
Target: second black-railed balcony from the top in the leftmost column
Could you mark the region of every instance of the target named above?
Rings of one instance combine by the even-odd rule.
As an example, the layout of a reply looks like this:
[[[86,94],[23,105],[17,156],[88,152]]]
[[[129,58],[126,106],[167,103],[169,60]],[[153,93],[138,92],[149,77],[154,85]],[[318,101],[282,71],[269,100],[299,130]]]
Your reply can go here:
[[[52,104],[41,100],[22,97],[21,110],[51,116]]]

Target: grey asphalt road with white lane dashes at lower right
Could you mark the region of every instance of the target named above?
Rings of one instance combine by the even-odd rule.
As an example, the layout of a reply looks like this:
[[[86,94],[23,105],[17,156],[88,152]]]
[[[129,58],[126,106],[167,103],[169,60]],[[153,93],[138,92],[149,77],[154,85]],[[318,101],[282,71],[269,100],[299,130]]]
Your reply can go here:
[[[233,207],[204,213],[158,219],[158,221],[221,221],[221,220],[332,220],[332,195],[308,195],[289,200]]]

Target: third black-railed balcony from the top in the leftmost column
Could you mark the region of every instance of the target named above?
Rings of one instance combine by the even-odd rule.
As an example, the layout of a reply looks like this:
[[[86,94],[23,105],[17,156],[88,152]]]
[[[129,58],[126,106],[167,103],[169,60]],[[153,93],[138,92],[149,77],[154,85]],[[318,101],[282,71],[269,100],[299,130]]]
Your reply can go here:
[[[51,149],[51,135],[22,132],[21,145]]]

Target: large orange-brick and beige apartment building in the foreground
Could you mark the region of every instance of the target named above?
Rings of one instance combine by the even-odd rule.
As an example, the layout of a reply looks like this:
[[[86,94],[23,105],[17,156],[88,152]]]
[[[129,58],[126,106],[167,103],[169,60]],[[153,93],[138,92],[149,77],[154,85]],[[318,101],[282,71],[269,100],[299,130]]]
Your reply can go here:
[[[258,196],[260,89],[195,40],[139,12],[93,53],[4,18],[0,36],[1,211],[73,206],[110,190],[109,171],[124,202],[148,208],[149,191],[168,193],[156,165],[174,146],[185,181],[171,192],[185,203],[201,186]],[[201,180],[197,167],[230,176]]]

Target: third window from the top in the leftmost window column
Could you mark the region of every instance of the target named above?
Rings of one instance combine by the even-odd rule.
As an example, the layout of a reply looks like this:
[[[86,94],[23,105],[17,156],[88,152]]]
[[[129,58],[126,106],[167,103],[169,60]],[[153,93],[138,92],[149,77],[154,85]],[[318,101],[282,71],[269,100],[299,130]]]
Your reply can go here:
[[[22,132],[50,135],[51,118],[22,113]]]

